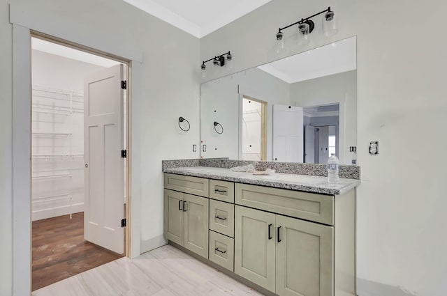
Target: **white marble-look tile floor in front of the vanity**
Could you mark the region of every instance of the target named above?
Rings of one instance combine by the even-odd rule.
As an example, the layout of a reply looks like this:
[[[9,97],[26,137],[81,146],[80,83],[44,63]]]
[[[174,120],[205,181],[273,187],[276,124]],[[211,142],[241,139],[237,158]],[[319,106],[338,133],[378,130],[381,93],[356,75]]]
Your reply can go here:
[[[134,259],[120,258],[34,291],[32,296],[262,295],[166,245]]]

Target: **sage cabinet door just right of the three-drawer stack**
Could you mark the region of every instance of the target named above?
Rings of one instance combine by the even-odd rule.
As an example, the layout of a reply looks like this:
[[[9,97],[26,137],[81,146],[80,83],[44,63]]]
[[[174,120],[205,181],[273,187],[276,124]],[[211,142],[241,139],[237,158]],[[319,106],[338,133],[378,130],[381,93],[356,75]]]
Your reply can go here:
[[[235,206],[235,273],[272,292],[274,219],[274,214]]]

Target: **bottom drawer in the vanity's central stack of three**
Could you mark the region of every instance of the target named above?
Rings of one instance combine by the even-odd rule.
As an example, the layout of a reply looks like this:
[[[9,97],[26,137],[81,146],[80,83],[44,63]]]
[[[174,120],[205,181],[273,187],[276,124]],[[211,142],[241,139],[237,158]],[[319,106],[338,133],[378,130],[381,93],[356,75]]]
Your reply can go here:
[[[233,272],[235,241],[233,238],[210,231],[209,259]]]

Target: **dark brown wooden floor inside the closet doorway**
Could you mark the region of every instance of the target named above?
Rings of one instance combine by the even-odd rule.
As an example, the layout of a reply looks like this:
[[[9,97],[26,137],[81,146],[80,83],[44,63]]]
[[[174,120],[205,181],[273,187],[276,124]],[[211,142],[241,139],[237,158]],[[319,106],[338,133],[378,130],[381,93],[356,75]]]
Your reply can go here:
[[[33,221],[32,234],[32,290],[122,258],[84,240],[83,212]]]

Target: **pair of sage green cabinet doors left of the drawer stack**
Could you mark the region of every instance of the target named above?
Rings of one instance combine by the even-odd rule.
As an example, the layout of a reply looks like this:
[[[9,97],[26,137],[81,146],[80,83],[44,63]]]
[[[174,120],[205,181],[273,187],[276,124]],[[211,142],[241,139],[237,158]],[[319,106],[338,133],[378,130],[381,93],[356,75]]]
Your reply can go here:
[[[208,258],[208,198],[165,189],[164,203],[166,239]]]

